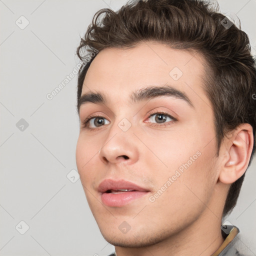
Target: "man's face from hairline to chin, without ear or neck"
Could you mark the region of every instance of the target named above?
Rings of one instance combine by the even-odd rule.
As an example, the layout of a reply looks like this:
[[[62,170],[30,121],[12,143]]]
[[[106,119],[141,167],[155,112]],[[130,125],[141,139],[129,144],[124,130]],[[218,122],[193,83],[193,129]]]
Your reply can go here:
[[[198,53],[156,42],[106,48],[92,61],[81,93],[87,96],[79,108],[76,164],[111,244],[159,242],[210,203],[216,143],[204,66]]]

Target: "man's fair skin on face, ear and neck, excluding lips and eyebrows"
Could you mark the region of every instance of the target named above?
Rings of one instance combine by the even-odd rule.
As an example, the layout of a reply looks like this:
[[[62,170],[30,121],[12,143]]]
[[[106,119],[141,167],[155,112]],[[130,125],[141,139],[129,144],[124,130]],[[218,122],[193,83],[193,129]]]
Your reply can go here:
[[[178,80],[169,75],[175,66],[183,73]],[[102,92],[107,102],[81,105],[79,119],[98,114],[105,124],[96,127],[91,121],[94,130],[80,125],[76,164],[92,214],[117,256],[206,256],[223,242],[225,198],[248,165],[252,129],[249,124],[237,127],[224,138],[216,157],[204,67],[199,53],[151,41],[129,49],[103,49],[87,71],[82,95]],[[185,92],[193,107],[166,95],[130,103],[131,92],[164,84]],[[160,111],[176,121],[165,116],[166,122],[159,123]],[[151,113],[156,114],[149,117]],[[125,132],[118,126],[123,118],[131,124]],[[151,202],[149,196],[198,151],[200,156]],[[150,191],[122,207],[106,206],[97,191],[105,178],[125,179]],[[123,221],[130,226],[126,233],[118,228]]]

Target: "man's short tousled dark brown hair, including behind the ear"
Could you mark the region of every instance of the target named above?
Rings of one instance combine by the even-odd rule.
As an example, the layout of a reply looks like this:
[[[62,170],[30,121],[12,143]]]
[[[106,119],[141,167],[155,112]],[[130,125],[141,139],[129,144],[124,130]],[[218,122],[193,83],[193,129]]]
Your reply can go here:
[[[77,47],[83,61],[78,74],[78,113],[83,80],[95,57],[91,55],[93,50],[130,48],[143,41],[195,50],[207,63],[204,89],[214,111],[216,155],[228,131],[249,123],[253,128],[250,164],[255,151],[255,59],[250,54],[247,34],[234,24],[224,27],[225,16],[217,11],[201,0],[131,0],[116,12],[109,8],[97,11]],[[87,56],[89,61],[84,61]],[[244,174],[231,184],[223,216],[235,206],[243,179]]]

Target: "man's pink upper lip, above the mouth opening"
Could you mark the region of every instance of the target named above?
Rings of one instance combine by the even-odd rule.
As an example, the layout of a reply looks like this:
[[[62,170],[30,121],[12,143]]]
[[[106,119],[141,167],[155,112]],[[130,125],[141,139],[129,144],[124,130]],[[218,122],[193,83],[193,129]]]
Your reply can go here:
[[[107,190],[131,189],[136,191],[149,191],[146,188],[138,186],[130,181],[119,179],[104,179],[98,186],[98,191],[103,193]]]

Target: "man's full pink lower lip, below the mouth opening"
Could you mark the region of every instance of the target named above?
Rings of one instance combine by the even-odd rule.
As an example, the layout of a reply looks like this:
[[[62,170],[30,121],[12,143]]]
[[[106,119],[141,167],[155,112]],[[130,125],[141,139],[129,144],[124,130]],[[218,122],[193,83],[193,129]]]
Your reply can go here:
[[[121,193],[102,193],[101,200],[107,206],[120,207],[145,195],[147,191],[127,191]]]

